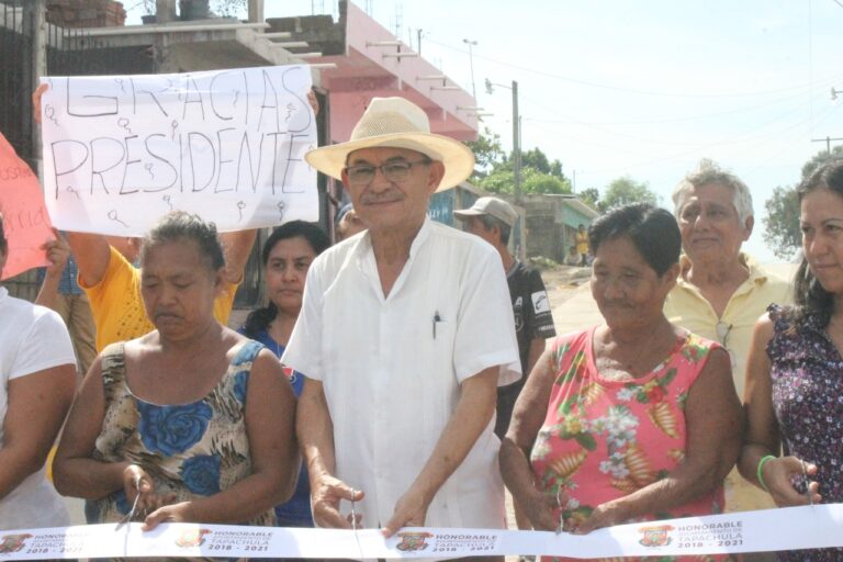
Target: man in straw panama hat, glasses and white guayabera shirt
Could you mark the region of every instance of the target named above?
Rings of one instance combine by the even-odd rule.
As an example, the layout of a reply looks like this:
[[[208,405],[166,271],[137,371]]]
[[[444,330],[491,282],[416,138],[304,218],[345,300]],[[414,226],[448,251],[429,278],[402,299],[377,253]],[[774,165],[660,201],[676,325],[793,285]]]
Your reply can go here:
[[[349,142],[305,159],[367,227],[311,266],[282,358],[306,376],[314,519],[503,528],[496,386],[520,372],[506,277],[491,246],[427,217],[434,192],[471,175],[471,150],[407,100],[374,98]]]

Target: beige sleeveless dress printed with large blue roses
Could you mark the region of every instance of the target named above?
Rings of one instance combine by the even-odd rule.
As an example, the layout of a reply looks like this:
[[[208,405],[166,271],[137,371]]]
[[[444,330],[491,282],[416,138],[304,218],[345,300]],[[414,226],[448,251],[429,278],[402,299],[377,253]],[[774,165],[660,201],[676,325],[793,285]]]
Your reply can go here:
[[[105,416],[93,458],[103,462],[130,460],[155,482],[155,492],[175,493],[176,503],[222,492],[251,474],[246,436],[246,391],[251,363],[263,348],[241,346],[217,385],[189,404],[161,406],[132,394],[126,383],[123,342],[102,352]],[[116,522],[132,508],[121,488],[86,503],[89,524]],[[273,526],[272,509],[247,525]]]

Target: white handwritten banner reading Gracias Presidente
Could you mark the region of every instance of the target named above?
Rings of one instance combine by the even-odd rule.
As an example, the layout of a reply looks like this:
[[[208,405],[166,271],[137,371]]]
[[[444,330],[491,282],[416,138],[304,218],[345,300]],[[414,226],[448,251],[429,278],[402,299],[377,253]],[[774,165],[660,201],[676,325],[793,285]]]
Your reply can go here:
[[[63,229],[139,236],[172,210],[223,232],[318,218],[306,66],[42,82],[44,193]]]

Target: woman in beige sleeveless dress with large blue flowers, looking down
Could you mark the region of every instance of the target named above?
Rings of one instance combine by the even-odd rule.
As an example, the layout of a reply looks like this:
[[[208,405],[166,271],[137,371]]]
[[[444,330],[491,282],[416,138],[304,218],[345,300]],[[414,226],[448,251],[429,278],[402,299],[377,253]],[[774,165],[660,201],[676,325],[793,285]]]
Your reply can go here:
[[[297,473],[295,398],[272,352],[213,315],[223,254],[213,224],[171,213],[144,241],[156,329],[106,347],[86,376],[54,464],[89,522],[273,525]]]

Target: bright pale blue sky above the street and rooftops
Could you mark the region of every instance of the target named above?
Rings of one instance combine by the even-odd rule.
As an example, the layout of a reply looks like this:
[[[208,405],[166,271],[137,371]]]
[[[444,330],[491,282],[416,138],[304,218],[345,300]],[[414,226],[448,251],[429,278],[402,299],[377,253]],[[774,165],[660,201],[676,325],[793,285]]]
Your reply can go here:
[[[330,0],[267,0],[267,16],[336,11]],[[126,2],[131,5],[130,2]],[[764,201],[798,181],[824,143],[843,137],[843,0],[360,0],[405,42],[471,91],[485,124],[512,138],[508,90],[517,80],[522,146],[563,162],[576,188],[604,190],[628,175],[670,205],[700,158],[752,189],[762,239]],[[139,14],[132,12],[131,18]],[[130,20],[130,22],[132,22]],[[843,142],[842,142],[843,143]]]

